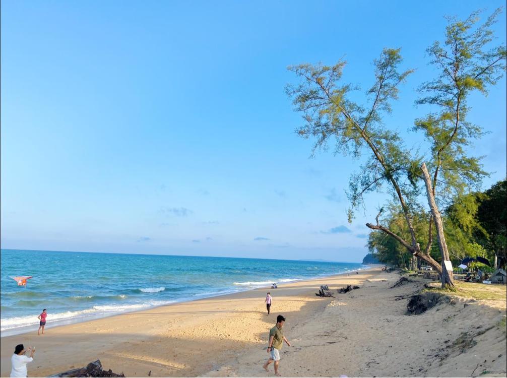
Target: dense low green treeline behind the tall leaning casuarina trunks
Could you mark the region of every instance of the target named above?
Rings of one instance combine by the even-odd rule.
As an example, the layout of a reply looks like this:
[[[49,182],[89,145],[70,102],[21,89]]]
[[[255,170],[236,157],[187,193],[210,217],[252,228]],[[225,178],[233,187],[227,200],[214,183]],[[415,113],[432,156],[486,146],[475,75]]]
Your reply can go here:
[[[498,181],[485,192],[470,193],[454,198],[442,214],[445,224],[444,232],[453,267],[457,267],[465,257],[485,257],[494,267],[495,255],[497,265],[505,269],[507,258],[506,213],[507,180]],[[428,242],[427,215],[416,214],[418,243]],[[397,235],[408,233],[403,213],[396,206],[389,208],[383,222]],[[386,264],[411,268],[412,254],[396,240],[381,231],[369,235],[368,249],[371,258]],[[431,256],[440,262],[440,251],[434,243],[429,251]],[[474,266],[473,266],[474,268]],[[488,270],[480,264],[482,270]],[[493,268],[494,269],[494,268]]]

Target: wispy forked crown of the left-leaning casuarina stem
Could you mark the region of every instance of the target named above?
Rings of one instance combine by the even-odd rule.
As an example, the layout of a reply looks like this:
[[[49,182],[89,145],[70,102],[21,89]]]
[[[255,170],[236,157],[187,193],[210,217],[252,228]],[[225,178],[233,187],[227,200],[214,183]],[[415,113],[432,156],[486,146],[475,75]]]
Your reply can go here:
[[[412,72],[400,72],[401,62],[400,49],[384,49],[374,61],[375,80],[367,92],[371,102],[368,109],[349,99],[349,92],[356,87],[341,83],[344,61],[334,66],[288,67],[302,79],[299,85],[288,85],[286,93],[293,97],[295,109],[304,114],[305,123],[297,133],[316,138],[312,154],[316,149],[327,148],[330,140],[336,154],[355,157],[365,151],[369,154],[360,172],[350,179],[349,220],[353,218],[353,209],[363,203],[365,194],[379,190],[384,182],[392,184],[399,180],[410,161],[400,136],[381,123],[382,114],[391,111],[390,101],[397,99],[397,87]]]

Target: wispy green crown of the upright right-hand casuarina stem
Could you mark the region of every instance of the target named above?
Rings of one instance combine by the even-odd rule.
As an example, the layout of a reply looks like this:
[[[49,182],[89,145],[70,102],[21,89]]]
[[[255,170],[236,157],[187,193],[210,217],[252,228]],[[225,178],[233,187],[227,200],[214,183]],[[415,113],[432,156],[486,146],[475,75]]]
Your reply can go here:
[[[440,187],[436,196],[440,206],[470,188],[477,189],[487,176],[482,157],[467,156],[466,147],[483,135],[480,126],[467,121],[467,100],[475,91],[487,95],[504,74],[505,46],[490,46],[491,26],[500,13],[497,9],[482,25],[478,24],[480,11],[464,21],[448,18],[444,43],[434,42],[426,50],[440,74],[420,86],[422,97],[416,103],[438,111],[416,120],[414,130],[422,131],[431,143],[431,161],[426,163],[433,172],[433,191],[437,183]]]

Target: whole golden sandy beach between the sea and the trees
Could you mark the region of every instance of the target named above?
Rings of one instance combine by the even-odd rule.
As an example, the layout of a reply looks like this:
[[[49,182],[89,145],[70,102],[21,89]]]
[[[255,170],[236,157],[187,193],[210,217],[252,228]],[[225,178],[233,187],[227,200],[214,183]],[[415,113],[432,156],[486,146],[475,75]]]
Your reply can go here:
[[[455,298],[406,315],[407,297],[427,280],[390,288],[398,273],[360,274],[293,282],[1,339],[1,375],[19,343],[37,347],[29,376],[45,376],[100,359],[126,376],[273,376],[262,369],[276,316],[286,317],[292,343],[281,350],[283,376],[505,376],[505,296]],[[314,295],[330,288],[359,290]],[[505,285],[503,285],[503,293]],[[49,320],[49,318],[48,318]],[[476,368],[477,367],[477,368]]]

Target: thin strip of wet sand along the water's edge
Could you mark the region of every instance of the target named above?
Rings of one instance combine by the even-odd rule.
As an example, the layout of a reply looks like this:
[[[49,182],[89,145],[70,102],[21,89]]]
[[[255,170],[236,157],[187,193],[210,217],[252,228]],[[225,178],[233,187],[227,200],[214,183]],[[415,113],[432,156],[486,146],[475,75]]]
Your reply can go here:
[[[88,253],[92,253],[92,252],[88,252]],[[345,271],[343,273],[338,273],[338,274],[322,275],[322,276],[315,276],[315,277],[301,278],[301,279],[293,279],[293,280],[291,279],[291,281],[280,283],[280,285],[287,285],[287,284],[291,284],[293,282],[302,282],[302,281],[308,281],[308,280],[315,280],[315,279],[319,279],[319,278],[325,279],[327,277],[341,276],[341,275],[344,275],[344,274],[350,274],[351,272],[355,272],[355,271],[365,271],[365,270],[368,270],[368,269],[373,269],[373,268],[382,266],[382,264],[361,264],[361,265],[364,268],[358,268],[358,269],[355,269],[355,270],[352,270],[352,271]],[[112,312],[111,314],[106,314],[106,315],[104,315],[102,313],[102,314],[90,315],[89,317],[82,316],[82,317],[75,317],[75,318],[56,320],[56,321],[54,321],[54,323],[50,323],[49,327],[47,326],[46,329],[54,329],[56,327],[62,327],[62,326],[67,326],[67,325],[72,325],[72,324],[79,324],[79,323],[84,323],[84,322],[89,322],[89,321],[94,321],[94,320],[99,320],[99,319],[106,319],[106,318],[111,318],[111,317],[118,316],[118,315],[131,314],[131,313],[135,313],[135,312],[138,312],[138,311],[147,311],[147,310],[157,309],[159,307],[173,306],[173,305],[178,305],[178,304],[190,303],[190,302],[198,301],[198,300],[202,300],[202,299],[211,299],[211,298],[215,298],[215,297],[222,297],[222,296],[227,296],[227,295],[247,292],[247,291],[251,291],[251,290],[259,290],[259,289],[263,289],[263,290],[264,289],[270,289],[270,287],[267,287],[267,286],[252,287],[252,288],[247,288],[245,290],[230,291],[230,292],[226,292],[226,293],[223,293],[223,294],[212,294],[212,295],[209,295],[209,296],[202,296],[202,297],[198,297],[198,298],[194,298],[194,299],[182,299],[182,300],[174,299],[170,303],[164,303],[164,304],[155,305],[155,306],[148,306],[146,308],[139,308],[139,309],[135,309],[135,310],[132,310],[132,311]],[[142,304],[139,304],[139,306],[141,306],[141,305]],[[86,311],[86,310],[80,310],[80,311]],[[10,337],[10,336],[16,336],[16,335],[23,335],[25,333],[30,333],[30,329],[32,329],[32,328],[38,328],[38,327],[39,326],[37,324],[35,324],[35,325],[28,325],[28,326],[18,327],[18,328],[8,328],[8,329],[0,331],[0,338]]]

